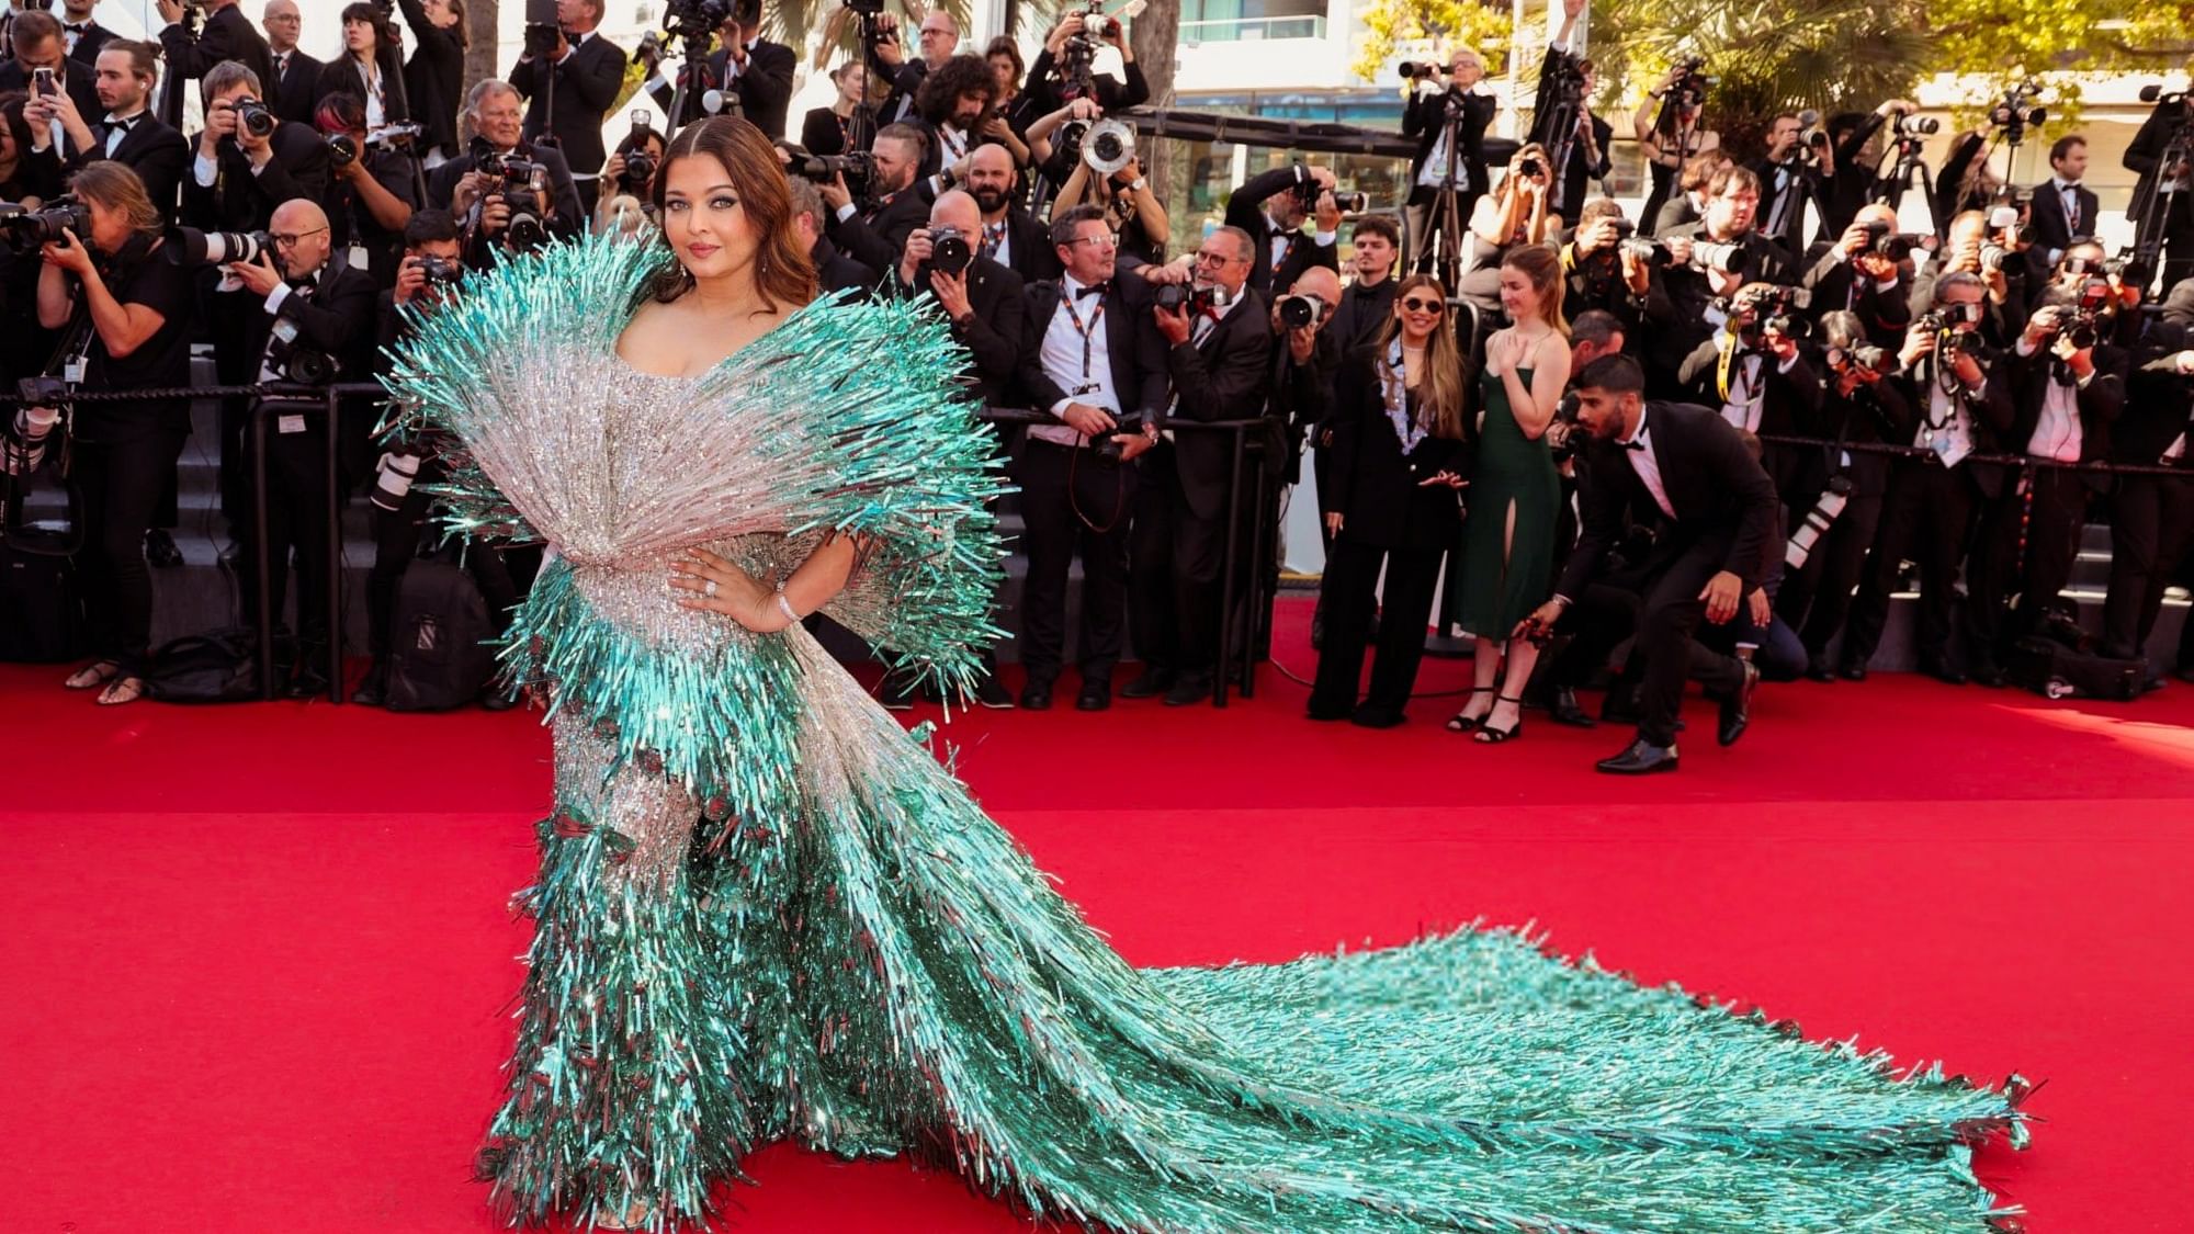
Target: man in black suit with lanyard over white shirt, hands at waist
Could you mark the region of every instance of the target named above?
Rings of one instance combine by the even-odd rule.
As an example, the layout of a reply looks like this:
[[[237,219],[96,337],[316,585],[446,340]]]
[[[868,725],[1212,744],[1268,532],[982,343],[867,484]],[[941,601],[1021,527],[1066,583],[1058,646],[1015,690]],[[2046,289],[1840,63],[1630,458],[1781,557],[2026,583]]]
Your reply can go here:
[[[1064,274],[1027,290],[1020,389],[1060,424],[1031,424],[1014,483],[1029,551],[1020,597],[1020,705],[1051,707],[1066,650],[1066,573],[1082,556],[1082,624],[1075,707],[1112,705],[1128,615],[1128,520],[1141,483],[1139,457],[1165,417],[1165,343],[1147,288],[1115,272],[1112,228],[1090,206],[1051,220]]]

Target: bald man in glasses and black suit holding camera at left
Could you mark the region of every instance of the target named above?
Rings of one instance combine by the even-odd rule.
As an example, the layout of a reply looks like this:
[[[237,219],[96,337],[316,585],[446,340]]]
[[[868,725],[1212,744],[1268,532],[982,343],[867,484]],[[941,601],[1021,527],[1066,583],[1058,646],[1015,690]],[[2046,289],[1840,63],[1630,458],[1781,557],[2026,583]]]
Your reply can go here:
[[[268,226],[270,246],[257,261],[224,266],[224,279],[259,301],[259,312],[246,329],[252,356],[259,358],[259,382],[362,380],[371,373],[375,338],[375,285],[364,270],[331,261],[327,211],[307,198],[274,206]],[[283,327],[276,329],[276,323]],[[327,373],[327,375],[320,375]],[[270,615],[283,626],[283,595],[290,586],[290,562],[296,560],[296,672],[290,694],[305,698],[327,694],[329,610],[327,582],[333,560],[327,553],[327,411],[318,397],[261,397],[265,415],[265,505],[268,505],[268,575]],[[355,461],[364,455],[369,408],[344,408],[338,455]],[[344,430],[342,426],[349,426]],[[252,437],[244,435],[244,448]],[[246,470],[250,476],[250,470]],[[246,479],[246,483],[250,483]],[[344,485],[347,490],[349,485]],[[252,509],[246,505],[246,509]],[[244,619],[259,621],[259,577],[255,520],[239,518],[237,542],[244,549],[237,575],[244,580]]]

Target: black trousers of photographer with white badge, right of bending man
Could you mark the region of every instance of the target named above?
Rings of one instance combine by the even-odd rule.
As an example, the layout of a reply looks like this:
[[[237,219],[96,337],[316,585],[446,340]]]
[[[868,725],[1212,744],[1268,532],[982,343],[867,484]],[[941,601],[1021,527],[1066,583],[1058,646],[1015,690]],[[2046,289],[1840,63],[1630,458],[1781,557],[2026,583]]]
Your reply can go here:
[[[1922,659],[1944,663],[1950,654],[1950,613],[1957,597],[1957,560],[1966,549],[1972,509],[1981,492],[1961,468],[1935,459],[1898,459],[1889,468],[1874,556],[1861,566],[1858,595],[1843,624],[1843,663],[1863,668],[1882,646],[1889,597],[1898,588],[1898,566],[1920,564]]]

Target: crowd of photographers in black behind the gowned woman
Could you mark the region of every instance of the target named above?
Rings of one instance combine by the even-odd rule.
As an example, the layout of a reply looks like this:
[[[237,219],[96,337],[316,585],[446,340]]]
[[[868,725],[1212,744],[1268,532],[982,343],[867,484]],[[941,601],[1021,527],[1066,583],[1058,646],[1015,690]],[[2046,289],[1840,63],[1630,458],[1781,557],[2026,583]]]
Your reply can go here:
[[[2194,485],[2170,474],[2185,465],[2194,395],[2183,97],[2157,99],[2126,156],[2144,173],[2130,261],[2091,239],[2097,202],[2082,187],[2078,136],[2049,145],[2045,182],[1997,182],[1992,143],[2043,121],[2032,90],[2010,92],[1926,176],[1920,145],[1933,121],[1907,101],[1825,123],[1773,116],[1757,149],[1724,147],[1703,127],[1711,79],[1685,61],[1628,121],[1652,173],[1630,217],[1593,191],[1613,125],[1593,112],[1591,61],[1567,51],[1580,9],[1567,4],[1529,141],[1514,152],[1488,138],[1496,105],[1474,53],[1404,66],[1417,154],[1400,217],[1367,213],[1330,169],[1297,162],[1244,182],[1224,224],[1187,255],[1167,253],[1172,224],[1134,134],[1108,119],[1150,90],[1121,22],[1095,9],[1073,9],[1033,61],[1005,37],[963,53],[943,9],[917,31],[860,13],[864,55],[832,72],[834,103],[796,125],[794,55],[759,37],[757,4],[671,4],[671,40],[687,55],[674,66],[654,37],[634,55],[665,116],[735,112],[781,138],[825,292],[935,301],[970,386],[992,406],[1036,413],[989,428],[1011,457],[1025,525],[1020,707],[1053,703],[1068,646],[1075,705],[1108,707],[1130,630],[1143,668],[1119,685],[1126,698],[1209,698],[1222,628],[1262,652],[1259,624],[1222,610],[1222,595],[1248,591],[1226,586],[1244,580],[1222,580],[1222,562],[1231,534],[1255,542],[1229,512],[1270,527],[1277,501],[1231,503],[1231,437],[1200,428],[1257,422],[1251,465],[1273,481],[1264,492],[1286,492],[1305,461],[1319,474],[1334,569],[1319,621],[1332,665],[1314,714],[1373,727],[1402,718],[1417,632],[1466,512],[1483,525],[1481,492],[1523,492],[1499,507],[1492,556],[1466,556],[1461,588],[1516,593],[1488,606],[1501,628],[1470,632],[1483,659],[1505,654],[1512,668],[1534,659],[1525,646],[1558,643],[1527,672],[1534,703],[1591,722],[1573,689],[1652,610],[1641,615],[1635,586],[1624,599],[1619,569],[1593,577],[1593,597],[1556,591],[1593,468],[1571,444],[1575,400],[1558,406],[1547,393],[1542,417],[1531,406],[1545,391],[1505,386],[1509,369],[1529,369],[1509,362],[1509,334],[1514,347],[1553,347],[1538,318],[1560,336],[1569,373],[1626,356],[1621,373],[1597,369],[1604,393],[1705,406],[1755,448],[1777,549],[1742,580],[1727,628],[1722,604],[1700,597],[1720,628],[1703,641],[1720,637],[1768,676],[1861,678],[1911,560],[1922,670],[2001,683],[2021,639],[2078,641],[2056,597],[2082,525],[2106,512],[2100,654],[2139,661],[2194,538]],[[408,55],[391,9],[351,4],[344,55],[325,66],[296,51],[292,0],[270,0],[265,37],[235,0],[206,4],[202,26],[162,0],[171,24],[158,46],[88,26],[88,2],[66,0],[66,11],[68,22],[20,13],[7,31],[0,198],[13,206],[0,226],[13,244],[0,268],[0,356],[11,378],[176,391],[81,402],[68,426],[99,654],[70,685],[125,703],[143,692],[147,562],[180,560],[167,529],[193,336],[211,338],[224,384],[366,378],[375,345],[406,329],[402,310],[430,312],[470,272],[557,237],[645,228],[676,123],[643,112],[614,147],[603,143],[627,55],[595,33],[601,0],[559,0],[555,24],[529,26],[507,79],[470,88],[461,0],[402,0]],[[189,136],[162,119],[180,114],[184,79],[204,114]],[[1933,231],[1898,222],[1915,184]],[[1490,338],[1501,338],[1494,354]],[[250,452],[255,417],[268,424],[263,457]],[[287,571],[298,575],[296,694],[329,687],[314,652],[331,637],[318,597],[336,569],[333,433],[375,505],[373,672],[358,698],[384,698],[391,606],[423,540],[419,481],[434,459],[373,446],[373,419],[360,404],[329,424],[309,400],[230,400],[222,413],[222,514],[239,560],[259,549],[272,560],[263,580],[237,571],[246,615],[252,588],[281,608]],[[13,470],[35,463],[55,422],[48,406],[15,413]],[[1558,485],[1542,516],[1540,463]],[[265,492],[252,492],[261,472]],[[1654,536],[1683,520],[1665,492],[1654,498],[1659,512],[1624,512],[1617,562],[1646,562]],[[255,542],[261,503],[265,545]],[[527,569],[496,545],[474,549],[467,564],[500,613]],[[1538,553],[1547,560],[1520,560]],[[1068,637],[1075,560],[1084,584]],[[1367,608],[1382,571],[1384,630]],[[1512,639],[1516,604],[1529,619]],[[1358,698],[1354,665],[1373,641],[1373,696]],[[2185,665],[2194,657],[2144,676]],[[1520,720],[1488,716],[1523,683],[1494,687],[1485,668],[1457,727],[1503,740]],[[1610,716],[1637,707],[1643,674],[1617,670]],[[886,683],[886,700],[904,703],[904,689]],[[1016,703],[996,676],[979,700]]]

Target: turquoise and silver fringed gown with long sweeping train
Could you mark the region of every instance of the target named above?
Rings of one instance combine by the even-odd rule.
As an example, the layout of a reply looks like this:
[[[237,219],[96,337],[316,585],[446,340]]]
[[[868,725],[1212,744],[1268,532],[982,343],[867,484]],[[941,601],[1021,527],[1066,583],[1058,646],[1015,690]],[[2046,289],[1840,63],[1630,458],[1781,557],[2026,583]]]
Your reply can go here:
[[[454,531],[553,547],[505,657],[546,681],[555,810],[509,1098],[513,1225],[717,1216],[759,1144],[917,1155],[1029,1214],[1165,1232],[1911,1232],[2010,1210],[1968,1168],[2021,1080],[1812,1043],[1514,931],[1132,968],[803,630],[678,608],[704,545],[864,538],[829,613],[965,681],[1000,487],[946,327],[816,303],[691,380],[614,343],[667,259],[518,259],[397,354]]]

